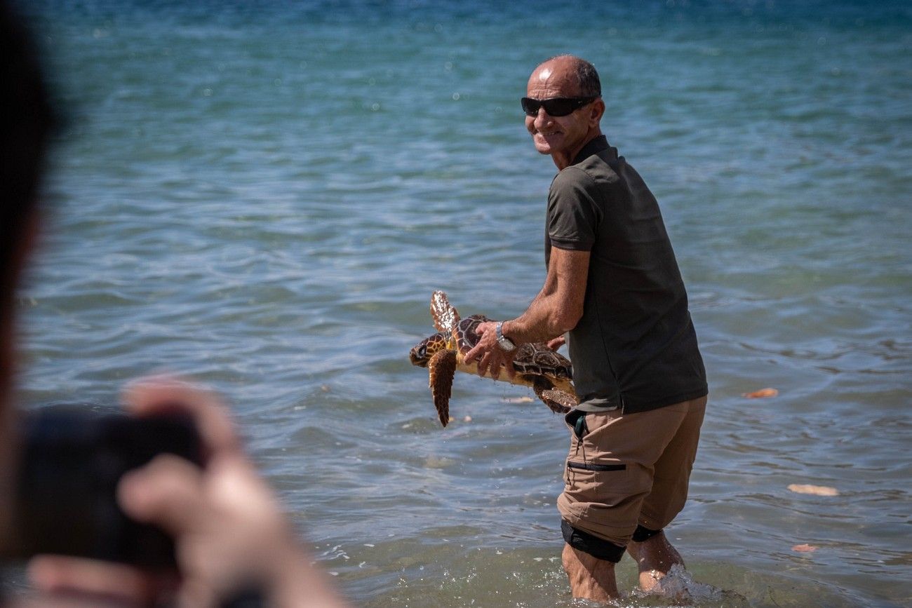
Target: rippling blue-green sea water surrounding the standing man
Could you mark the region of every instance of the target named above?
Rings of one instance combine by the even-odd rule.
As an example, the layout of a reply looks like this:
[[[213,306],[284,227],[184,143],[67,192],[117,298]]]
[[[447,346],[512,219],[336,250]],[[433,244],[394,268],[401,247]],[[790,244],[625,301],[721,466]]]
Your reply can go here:
[[[193,376],[356,605],[582,605],[561,417],[463,375],[440,428],[408,359],[432,290],[508,318],[541,287],[555,169],[519,98],[575,53],[662,206],[710,376],[679,584],[912,604],[907,3],[19,4],[65,119],[19,298],[25,407]],[[625,558],[619,605],[671,605],[634,579]]]

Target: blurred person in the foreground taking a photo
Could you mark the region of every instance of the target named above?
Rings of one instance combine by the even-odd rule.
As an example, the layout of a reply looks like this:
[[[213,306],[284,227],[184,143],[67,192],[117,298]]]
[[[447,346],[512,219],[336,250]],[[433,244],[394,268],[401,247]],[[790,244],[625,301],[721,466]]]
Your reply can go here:
[[[13,380],[15,288],[38,228],[37,198],[52,113],[26,33],[0,0],[0,554],[9,547],[16,476]],[[168,531],[178,572],[62,556],[29,563],[36,593],[26,606],[319,606],[344,601],[311,564],[275,494],[241,448],[230,417],[212,394],[171,378],[130,386],[136,416],[180,407],[200,431],[206,466],[160,456],[121,478],[121,509]],[[0,595],[3,593],[0,581]],[[0,597],[0,605],[7,606]]]

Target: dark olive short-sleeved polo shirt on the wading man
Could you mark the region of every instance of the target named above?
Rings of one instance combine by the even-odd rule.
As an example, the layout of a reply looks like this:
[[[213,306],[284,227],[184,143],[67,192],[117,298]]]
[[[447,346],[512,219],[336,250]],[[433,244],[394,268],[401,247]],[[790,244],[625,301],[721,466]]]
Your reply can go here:
[[[605,137],[548,192],[551,248],[590,252],[583,316],[568,335],[579,408],[625,413],[707,394],[687,292],[658,202]]]

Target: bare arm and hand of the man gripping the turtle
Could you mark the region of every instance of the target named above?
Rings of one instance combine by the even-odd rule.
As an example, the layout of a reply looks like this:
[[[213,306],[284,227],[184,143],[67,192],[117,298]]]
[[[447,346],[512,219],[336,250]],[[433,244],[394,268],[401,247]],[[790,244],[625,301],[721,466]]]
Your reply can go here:
[[[542,291],[523,314],[503,322],[503,335],[516,344],[523,344],[551,340],[573,329],[583,315],[588,272],[589,252],[552,248]],[[466,354],[466,360],[479,359],[480,376],[490,371],[490,375],[496,378],[503,366],[507,375],[513,377],[513,353],[497,345],[494,335],[496,325],[491,322],[478,326],[476,331],[480,340]]]

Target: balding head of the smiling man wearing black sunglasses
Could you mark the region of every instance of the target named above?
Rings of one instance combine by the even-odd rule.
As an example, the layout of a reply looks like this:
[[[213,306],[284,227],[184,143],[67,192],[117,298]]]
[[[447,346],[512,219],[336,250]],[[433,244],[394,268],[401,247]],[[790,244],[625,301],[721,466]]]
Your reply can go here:
[[[602,134],[598,126],[605,113],[601,83],[596,68],[585,59],[571,55],[548,59],[529,77],[526,95],[525,128],[535,149],[551,155],[558,169]],[[546,99],[559,100],[540,103]]]

